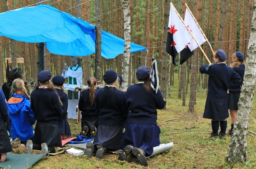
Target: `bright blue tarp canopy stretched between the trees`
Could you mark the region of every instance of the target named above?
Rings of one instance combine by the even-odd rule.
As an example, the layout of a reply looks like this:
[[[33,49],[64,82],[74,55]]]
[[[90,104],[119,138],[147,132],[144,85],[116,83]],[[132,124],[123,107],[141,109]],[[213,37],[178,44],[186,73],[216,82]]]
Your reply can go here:
[[[46,42],[56,55],[87,56],[95,53],[95,26],[50,6],[38,5],[0,13],[0,36],[21,42]],[[131,43],[131,53],[146,50]],[[101,56],[115,58],[124,51],[124,40],[101,32]]]

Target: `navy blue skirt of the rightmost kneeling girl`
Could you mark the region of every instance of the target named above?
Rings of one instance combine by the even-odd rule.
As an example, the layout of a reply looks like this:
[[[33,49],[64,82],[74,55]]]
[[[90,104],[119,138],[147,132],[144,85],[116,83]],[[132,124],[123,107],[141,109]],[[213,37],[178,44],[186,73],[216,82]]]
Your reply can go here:
[[[153,153],[153,147],[160,145],[161,130],[157,124],[131,124],[127,123],[123,135],[121,149],[126,145],[133,145],[146,152],[146,156]]]

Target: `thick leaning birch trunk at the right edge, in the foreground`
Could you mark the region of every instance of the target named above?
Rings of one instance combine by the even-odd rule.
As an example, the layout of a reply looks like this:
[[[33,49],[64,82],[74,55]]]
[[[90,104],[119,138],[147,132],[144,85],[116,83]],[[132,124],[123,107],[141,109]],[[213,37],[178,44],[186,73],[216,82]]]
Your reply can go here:
[[[233,135],[229,145],[226,161],[230,164],[246,161],[247,130],[249,113],[254,96],[256,77],[256,0],[254,0],[253,18],[251,22],[251,36],[245,66],[244,82],[238,103],[238,116],[234,124]]]

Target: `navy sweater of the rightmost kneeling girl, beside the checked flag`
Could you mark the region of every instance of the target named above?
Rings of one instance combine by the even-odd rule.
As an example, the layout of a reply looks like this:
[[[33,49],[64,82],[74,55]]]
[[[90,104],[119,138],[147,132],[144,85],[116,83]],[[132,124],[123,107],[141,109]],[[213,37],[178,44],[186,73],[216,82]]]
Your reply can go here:
[[[130,110],[127,123],[133,124],[157,124],[156,109],[163,109],[166,104],[159,89],[157,93],[153,89],[148,93],[142,83],[129,86],[125,99]]]

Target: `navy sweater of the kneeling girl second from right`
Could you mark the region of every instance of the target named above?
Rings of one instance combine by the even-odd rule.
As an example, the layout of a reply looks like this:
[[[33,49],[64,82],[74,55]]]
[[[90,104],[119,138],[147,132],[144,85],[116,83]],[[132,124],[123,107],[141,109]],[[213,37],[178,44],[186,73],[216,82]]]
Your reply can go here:
[[[105,86],[97,90],[94,103],[99,124],[123,125],[128,114],[124,95],[125,92],[116,87]]]

